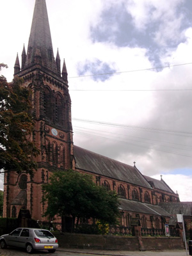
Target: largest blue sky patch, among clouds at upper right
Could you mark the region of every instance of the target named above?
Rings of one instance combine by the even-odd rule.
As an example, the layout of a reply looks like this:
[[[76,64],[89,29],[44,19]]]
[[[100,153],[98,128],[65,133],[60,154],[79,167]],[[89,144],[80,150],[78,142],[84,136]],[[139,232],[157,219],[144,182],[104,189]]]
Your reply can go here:
[[[152,6],[150,13],[154,10],[156,9]],[[166,28],[166,23],[164,24],[162,17],[159,20],[149,19],[145,29],[139,30],[134,26],[132,16],[127,12],[124,4],[113,4],[111,8],[103,10],[100,15],[100,22],[90,28],[92,41],[110,42],[118,47],[145,48],[148,50],[147,57],[154,63],[154,67],[161,67],[162,56],[170,49],[176,49],[181,42],[185,42],[186,38],[182,35],[182,31],[186,29],[186,26],[191,25],[189,22],[191,13],[184,4],[178,4],[175,12],[179,18],[183,17],[182,22],[180,22],[180,29],[172,31],[173,37],[168,36],[166,38],[166,35],[161,31],[162,27]],[[156,39],[157,32],[162,33],[160,35],[164,45],[161,45]]]

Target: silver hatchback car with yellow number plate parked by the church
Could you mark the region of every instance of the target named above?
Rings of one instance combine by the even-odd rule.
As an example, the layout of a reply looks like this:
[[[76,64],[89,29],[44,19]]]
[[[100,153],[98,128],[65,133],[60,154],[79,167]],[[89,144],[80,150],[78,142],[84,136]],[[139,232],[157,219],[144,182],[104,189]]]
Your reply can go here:
[[[58,239],[49,230],[40,228],[17,228],[12,233],[0,237],[2,249],[7,246],[26,248],[28,253],[33,250],[48,250],[54,253],[58,248]]]

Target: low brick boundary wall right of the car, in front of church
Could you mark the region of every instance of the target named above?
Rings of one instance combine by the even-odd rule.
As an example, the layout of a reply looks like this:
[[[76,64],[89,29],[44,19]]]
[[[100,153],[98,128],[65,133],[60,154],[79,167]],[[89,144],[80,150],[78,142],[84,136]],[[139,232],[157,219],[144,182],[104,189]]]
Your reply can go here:
[[[95,250],[183,250],[180,237],[142,237],[141,248],[138,237],[102,236],[87,234],[55,234],[60,248],[90,248]]]

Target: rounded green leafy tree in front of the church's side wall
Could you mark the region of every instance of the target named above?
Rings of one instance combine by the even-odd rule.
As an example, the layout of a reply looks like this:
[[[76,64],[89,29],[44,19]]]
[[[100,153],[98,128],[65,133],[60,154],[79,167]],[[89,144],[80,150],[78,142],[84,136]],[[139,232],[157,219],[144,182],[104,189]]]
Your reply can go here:
[[[113,191],[97,186],[91,175],[74,170],[52,174],[49,184],[44,184],[45,216],[56,214],[72,216],[72,231],[77,218],[93,218],[115,224],[119,214],[118,196]]]

